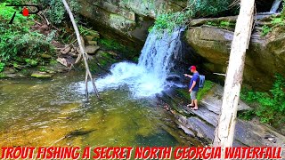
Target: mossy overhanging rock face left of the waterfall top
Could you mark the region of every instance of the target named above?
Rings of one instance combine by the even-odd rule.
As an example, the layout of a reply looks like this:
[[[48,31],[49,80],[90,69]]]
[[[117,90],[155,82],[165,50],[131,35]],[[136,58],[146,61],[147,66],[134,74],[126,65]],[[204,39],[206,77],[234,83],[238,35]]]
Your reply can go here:
[[[122,43],[142,47],[148,28],[162,12],[181,11],[183,0],[78,0],[80,14],[104,36],[117,36]]]

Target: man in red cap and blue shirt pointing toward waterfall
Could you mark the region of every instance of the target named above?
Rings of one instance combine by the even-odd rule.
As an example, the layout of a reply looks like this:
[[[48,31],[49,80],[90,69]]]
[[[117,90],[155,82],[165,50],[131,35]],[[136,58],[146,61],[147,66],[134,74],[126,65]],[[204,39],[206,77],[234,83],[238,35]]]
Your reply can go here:
[[[199,92],[199,72],[197,71],[196,66],[191,66],[189,68],[191,70],[192,76],[184,74],[186,77],[190,77],[190,85],[189,85],[189,92],[191,96],[191,104],[187,105],[188,108],[191,110],[198,110],[198,100],[197,100],[197,93]]]

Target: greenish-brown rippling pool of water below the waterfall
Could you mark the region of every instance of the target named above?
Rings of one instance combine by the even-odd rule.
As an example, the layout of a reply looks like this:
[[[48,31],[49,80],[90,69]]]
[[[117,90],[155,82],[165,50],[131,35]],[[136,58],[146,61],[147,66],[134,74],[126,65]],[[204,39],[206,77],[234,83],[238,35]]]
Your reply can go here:
[[[153,103],[130,99],[125,89],[101,92],[88,103],[77,75],[53,80],[0,81],[0,146],[192,146]]]

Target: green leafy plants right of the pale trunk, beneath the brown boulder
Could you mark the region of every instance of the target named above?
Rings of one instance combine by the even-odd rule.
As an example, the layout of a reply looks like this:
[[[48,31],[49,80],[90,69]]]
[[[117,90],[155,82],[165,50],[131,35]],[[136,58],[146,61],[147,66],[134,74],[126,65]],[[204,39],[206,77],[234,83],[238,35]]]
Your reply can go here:
[[[262,123],[274,123],[285,115],[285,79],[277,75],[276,81],[270,92],[243,91],[240,94],[241,100],[248,103],[257,103],[256,116],[260,117]]]

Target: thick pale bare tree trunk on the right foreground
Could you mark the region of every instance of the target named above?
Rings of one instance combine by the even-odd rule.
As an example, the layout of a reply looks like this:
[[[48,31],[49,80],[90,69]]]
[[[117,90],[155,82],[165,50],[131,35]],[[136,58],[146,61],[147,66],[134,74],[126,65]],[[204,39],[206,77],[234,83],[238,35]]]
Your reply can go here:
[[[221,115],[216,126],[213,146],[222,147],[222,159],[226,147],[232,147],[244,61],[253,27],[255,0],[241,0],[232,51],[224,84],[224,98]]]

